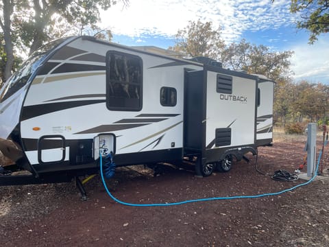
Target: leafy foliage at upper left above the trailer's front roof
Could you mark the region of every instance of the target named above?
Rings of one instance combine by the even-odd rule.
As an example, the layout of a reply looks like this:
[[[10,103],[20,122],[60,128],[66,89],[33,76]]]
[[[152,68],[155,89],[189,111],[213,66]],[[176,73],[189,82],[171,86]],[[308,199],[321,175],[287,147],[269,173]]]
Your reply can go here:
[[[114,0],[30,1],[15,12],[13,27],[21,36],[21,45],[29,54],[43,43],[64,36],[82,34],[83,30],[99,30],[99,9],[107,10]]]

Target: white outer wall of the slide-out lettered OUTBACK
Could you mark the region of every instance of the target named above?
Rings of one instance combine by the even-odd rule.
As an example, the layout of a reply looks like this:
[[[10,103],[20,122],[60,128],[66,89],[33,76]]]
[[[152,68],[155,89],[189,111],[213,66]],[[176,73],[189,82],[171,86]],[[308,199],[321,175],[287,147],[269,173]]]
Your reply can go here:
[[[225,71],[206,72],[206,149],[255,143],[256,77]]]

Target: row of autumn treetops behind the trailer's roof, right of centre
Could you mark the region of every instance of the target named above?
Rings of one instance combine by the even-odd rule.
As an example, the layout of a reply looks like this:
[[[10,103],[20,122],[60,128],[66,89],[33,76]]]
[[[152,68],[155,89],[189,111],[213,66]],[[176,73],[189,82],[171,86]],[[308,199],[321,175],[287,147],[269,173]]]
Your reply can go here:
[[[252,45],[246,40],[225,45],[221,39],[220,28],[212,29],[212,23],[190,21],[184,30],[175,36],[173,51],[188,56],[207,56],[223,62],[224,67],[243,70],[247,73],[265,75],[272,80],[287,78],[291,71],[292,51],[271,51],[264,45]]]

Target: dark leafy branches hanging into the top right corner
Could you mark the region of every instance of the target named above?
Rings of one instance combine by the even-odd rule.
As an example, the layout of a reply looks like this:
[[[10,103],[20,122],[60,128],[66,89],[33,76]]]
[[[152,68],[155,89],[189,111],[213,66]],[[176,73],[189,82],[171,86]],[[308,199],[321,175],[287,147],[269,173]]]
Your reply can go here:
[[[310,32],[310,44],[313,44],[320,34],[329,32],[328,0],[291,0],[290,10],[292,13],[300,12],[301,20],[297,21],[297,28]]]

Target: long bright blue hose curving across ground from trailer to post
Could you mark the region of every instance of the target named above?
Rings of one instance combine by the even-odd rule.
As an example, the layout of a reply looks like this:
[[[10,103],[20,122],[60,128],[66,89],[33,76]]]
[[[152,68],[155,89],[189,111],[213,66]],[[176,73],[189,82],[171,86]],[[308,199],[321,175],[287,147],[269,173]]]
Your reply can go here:
[[[167,207],[167,206],[182,205],[182,204],[191,203],[191,202],[206,202],[206,201],[211,201],[211,200],[233,200],[233,199],[245,199],[245,198],[261,198],[261,197],[265,197],[265,196],[278,196],[282,193],[292,191],[293,189],[297,189],[298,187],[302,187],[304,185],[308,185],[309,183],[311,183],[314,180],[314,178],[317,176],[317,170],[319,169],[321,155],[322,155],[322,150],[319,152],[319,158],[317,158],[317,167],[315,169],[315,174],[306,183],[302,183],[300,185],[295,185],[294,187],[291,187],[289,189],[284,189],[282,191],[278,191],[278,192],[274,192],[274,193],[263,193],[263,194],[252,195],[252,196],[228,196],[228,197],[199,198],[199,199],[194,199],[194,200],[184,200],[184,201],[180,201],[180,202],[154,203],[154,204],[135,204],[135,203],[123,202],[123,201],[115,198],[112,195],[112,193],[110,193],[110,191],[108,190],[108,187],[106,185],[106,182],[105,182],[104,176],[103,176],[102,158],[100,155],[101,181],[103,182],[103,186],[106,189],[108,196],[110,196],[110,198],[112,198],[112,200],[114,200],[115,202],[118,202],[120,204],[123,204],[125,206],[130,206],[130,207]]]

